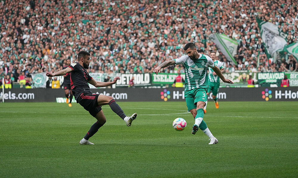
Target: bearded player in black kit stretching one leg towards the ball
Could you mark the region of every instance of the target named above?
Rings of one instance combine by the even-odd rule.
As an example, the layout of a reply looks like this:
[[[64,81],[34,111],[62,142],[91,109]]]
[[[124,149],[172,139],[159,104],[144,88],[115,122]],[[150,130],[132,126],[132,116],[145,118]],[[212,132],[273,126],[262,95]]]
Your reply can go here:
[[[128,117],[124,114],[123,110],[119,107],[113,97],[92,94],[88,83],[94,85],[96,88],[106,87],[115,84],[117,80],[120,80],[120,78],[115,77],[112,82],[97,82],[86,71],[86,69],[89,69],[90,53],[80,51],[77,55],[77,59],[78,62],[72,63],[66,69],[55,72],[54,74],[46,72],[46,76],[55,77],[70,73],[71,90],[77,100],[77,103],[83,106],[84,109],[89,111],[89,113],[97,119],[97,122],[91,126],[90,130],[80,141],[80,144],[93,144],[88,141],[89,138],[93,136],[106,122],[101,106],[108,104],[112,111],[125,121],[127,126],[131,126],[132,121],[137,117],[137,113]]]

